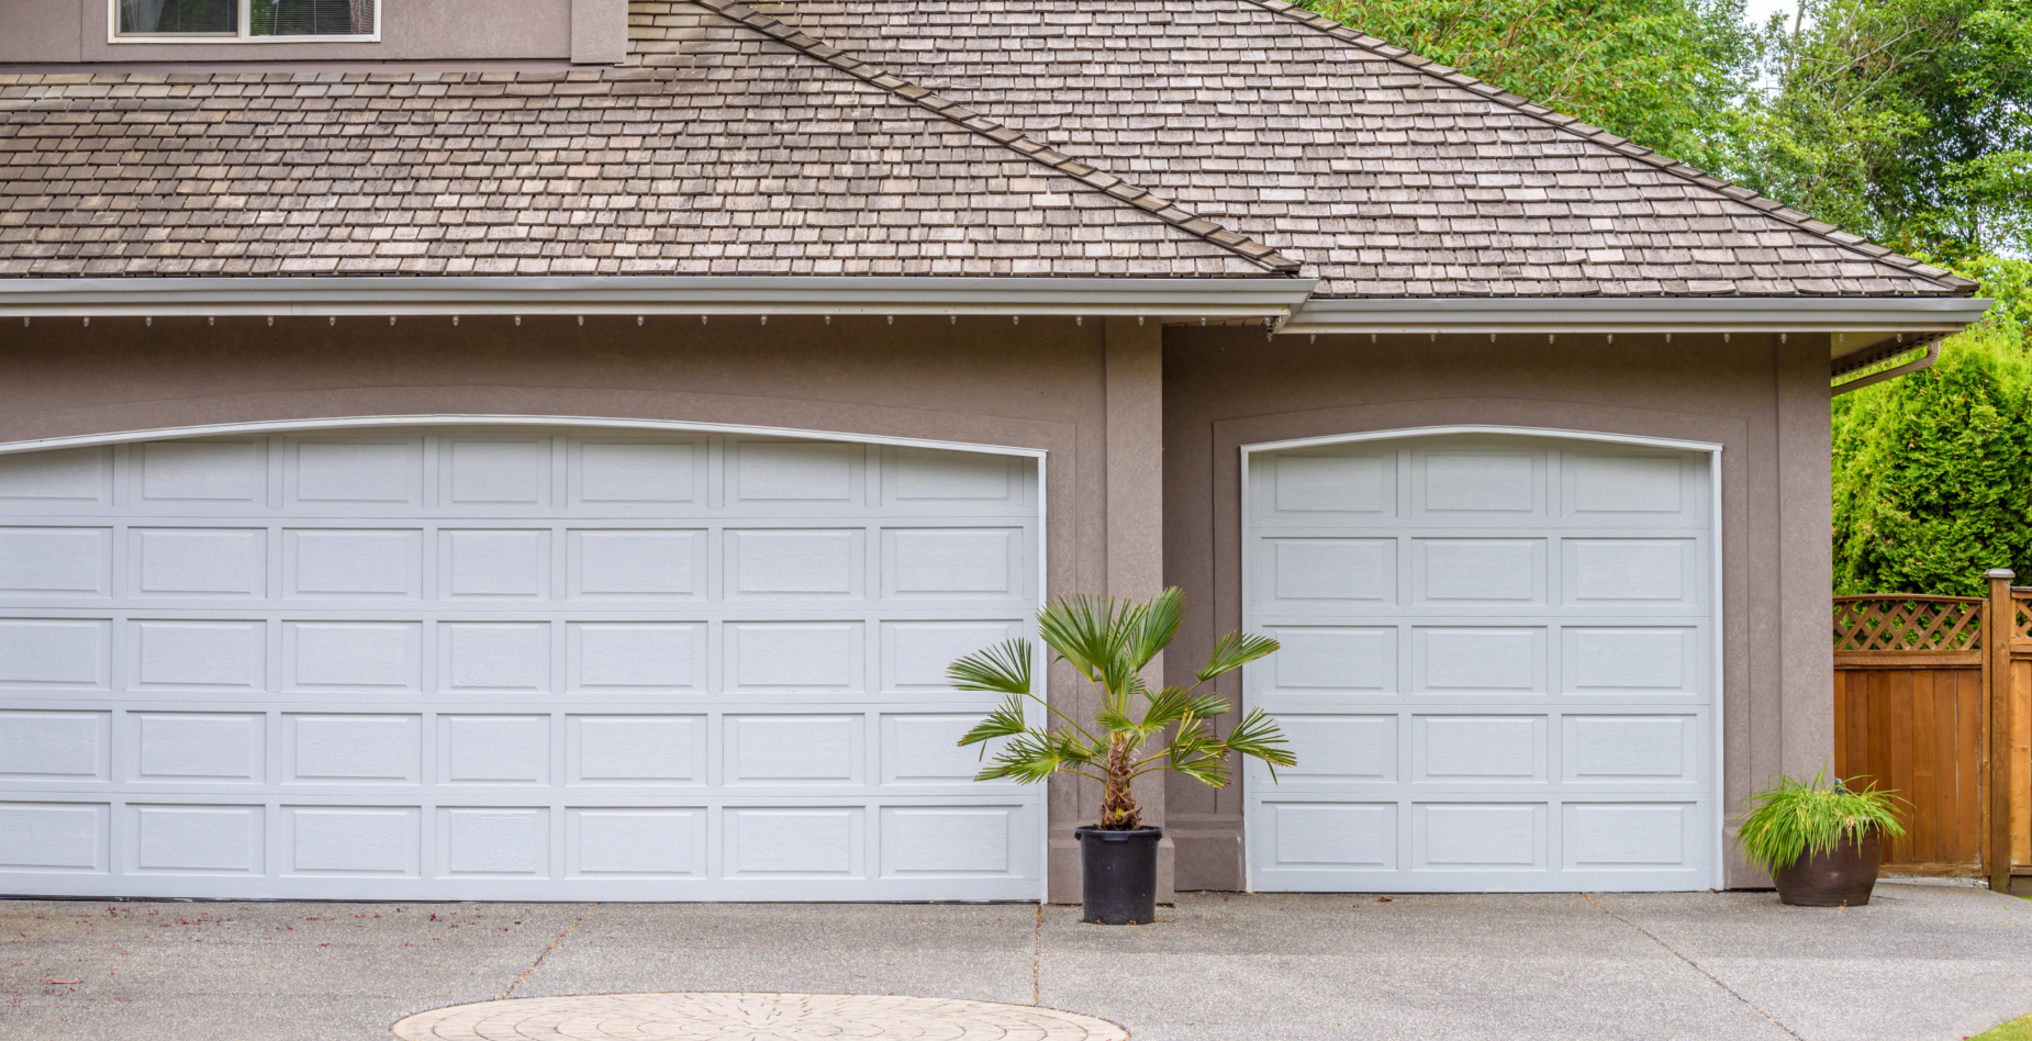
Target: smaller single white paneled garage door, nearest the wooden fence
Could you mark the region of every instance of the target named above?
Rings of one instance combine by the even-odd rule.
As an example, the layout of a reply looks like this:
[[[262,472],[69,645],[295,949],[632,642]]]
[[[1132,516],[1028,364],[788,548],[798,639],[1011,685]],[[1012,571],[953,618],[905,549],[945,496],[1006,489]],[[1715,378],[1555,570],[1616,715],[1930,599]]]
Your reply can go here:
[[[1451,435],[1248,457],[1258,891],[1705,889],[1711,455]]]

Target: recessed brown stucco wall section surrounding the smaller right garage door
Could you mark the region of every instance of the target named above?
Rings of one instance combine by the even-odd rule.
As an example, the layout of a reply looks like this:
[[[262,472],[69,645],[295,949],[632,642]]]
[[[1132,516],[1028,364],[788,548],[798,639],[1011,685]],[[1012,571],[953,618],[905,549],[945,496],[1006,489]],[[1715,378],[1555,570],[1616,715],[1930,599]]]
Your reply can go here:
[[[1825,358],[1825,335],[1168,329],[1164,577],[1189,598],[1174,669],[1242,624],[1242,445],[1449,423],[1721,443],[1725,805],[1811,773],[1833,756]],[[1179,889],[1240,889],[1242,785],[1172,779],[1166,809]],[[1731,862],[1729,884],[1762,878]]]

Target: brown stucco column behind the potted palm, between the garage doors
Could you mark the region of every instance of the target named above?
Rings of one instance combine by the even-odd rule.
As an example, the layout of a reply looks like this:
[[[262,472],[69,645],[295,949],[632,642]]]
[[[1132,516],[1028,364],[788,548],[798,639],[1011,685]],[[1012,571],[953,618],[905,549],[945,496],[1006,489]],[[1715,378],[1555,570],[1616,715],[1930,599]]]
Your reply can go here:
[[[1101,590],[1126,600],[1148,600],[1164,588],[1164,329],[1136,317],[1105,319],[1105,545],[1107,565]],[[1150,663],[1146,679],[1164,681],[1162,657]],[[1093,706],[1071,712],[1089,714]],[[1091,795],[1085,789],[1093,789]],[[1079,903],[1079,844],[1073,828],[1099,811],[1097,785],[1081,785],[1075,819],[1053,819],[1051,901]],[[1146,775],[1136,785],[1136,803],[1148,825],[1164,823],[1164,777]],[[1172,842],[1158,848],[1158,903],[1172,903]]]

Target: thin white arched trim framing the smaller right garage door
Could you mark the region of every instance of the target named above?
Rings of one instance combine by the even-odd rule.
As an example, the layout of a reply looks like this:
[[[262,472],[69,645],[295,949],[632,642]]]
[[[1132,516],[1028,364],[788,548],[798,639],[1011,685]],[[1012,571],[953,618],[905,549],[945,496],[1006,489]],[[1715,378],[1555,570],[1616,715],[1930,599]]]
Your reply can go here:
[[[1254,590],[1252,575],[1250,575],[1250,571],[1252,571],[1250,557],[1252,555],[1248,551],[1248,539],[1250,539],[1250,455],[1254,455],[1258,451],[1286,451],[1286,449],[1296,449],[1296,447],[1347,445],[1347,443],[1359,443],[1359,441],[1384,441],[1384,439],[1402,439],[1402,437],[1439,437],[1439,435],[1449,435],[1449,433],[1483,433],[1483,435],[1506,435],[1506,437],[1546,437],[1546,439],[1567,439],[1567,441],[1605,441],[1605,443],[1617,443],[1617,445],[1668,447],[1668,449],[1678,449],[1678,451],[1705,451],[1707,453],[1707,460],[1709,460],[1707,462],[1707,478],[1709,478],[1707,480],[1707,488],[1709,488],[1709,525],[1711,525],[1711,539],[1713,539],[1713,553],[1709,555],[1709,581],[1711,581],[1709,588],[1713,590],[1713,594],[1711,594],[1713,596],[1713,604],[1709,604],[1709,610],[1713,612],[1713,618],[1715,618],[1713,620],[1715,638],[1713,638],[1713,649],[1711,649],[1711,655],[1713,655],[1713,669],[1711,669],[1711,673],[1713,673],[1713,689],[1715,689],[1715,693],[1713,693],[1713,728],[1709,732],[1709,742],[1713,746],[1713,758],[1709,762],[1709,769],[1713,771],[1713,781],[1711,783],[1713,783],[1715,819],[1709,821],[1709,832],[1711,832],[1709,838],[1713,840],[1711,856],[1709,856],[1709,872],[1711,872],[1709,874],[1709,889],[1723,889],[1727,884],[1727,844],[1725,844],[1725,840],[1727,840],[1727,819],[1729,819],[1729,809],[1725,805],[1725,799],[1727,799],[1727,783],[1725,783],[1727,775],[1723,773],[1723,767],[1727,762],[1727,750],[1725,750],[1725,734],[1727,734],[1727,728],[1725,728],[1725,706],[1727,706],[1725,681],[1727,681],[1727,669],[1725,669],[1725,659],[1723,659],[1723,645],[1725,645],[1725,640],[1723,640],[1723,632],[1725,632],[1725,626],[1723,626],[1723,600],[1725,600],[1725,596],[1723,596],[1723,586],[1721,586],[1721,577],[1723,577],[1721,557],[1723,557],[1723,545],[1725,545],[1723,543],[1723,531],[1721,531],[1721,451],[1723,451],[1723,445],[1713,443],[1713,441],[1682,441],[1682,439],[1672,439],[1672,437],[1642,437],[1642,435],[1630,435],[1630,433],[1569,431],[1569,429],[1557,429],[1557,427],[1502,427],[1502,425],[1396,427],[1396,429],[1384,429],[1384,431],[1333,433],[1333,435],[1325,435],[1325,437],[1292,437],[1292,439],[1284,439],[1284,441],[1256,441],[1256,443],[1242,445],[1242,468],[1240,468],[1240,484],[1242,484],[1242,488],[1240,488],[1240,494],[1242,494],[1242,500],[1240,500],[1240,504],[1242,504],[1242,586],[1240,586],[1240,594],[1242,594],[1242,630],[1248,632],[1250,626],[1252,626],[1252,622],[1254,622],[1254,608],[1250,604],[1250,600],[1252,600],[1250,598],[1250,590]],[[1248,703],[1244,701],[1244,712],[1246,710],[1248,710]],[[1244,809],[1246,809],[1246,805],[1244,805]],[[1244,891],[1256,893],[1256,858],[1250,856],[1250,850],[1252,850],[1250,844],[1244,842],[1244,856],[1242,856],[1244,882],[1242,884],[1244,884]]]

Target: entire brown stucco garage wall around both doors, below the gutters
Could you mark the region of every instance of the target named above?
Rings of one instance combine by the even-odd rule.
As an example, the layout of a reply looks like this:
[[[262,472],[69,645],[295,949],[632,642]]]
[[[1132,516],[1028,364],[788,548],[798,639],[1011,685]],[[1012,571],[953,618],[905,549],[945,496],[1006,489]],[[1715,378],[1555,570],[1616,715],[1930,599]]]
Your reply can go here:
[[[1813,771],[1833,748],[1825,338],[1266,342],[1254,329],[1160,333],[1071,317],[12,321],[0,325],[0,441],[475,413],[1040,447],[1051,592],[1142,596],[1162,539],[1160,577],[1189,596],[1168,661],[1187,671],[1242,620],[1240,445],[1445,423],[1713,441],[1723,445],[1725,799],[1780,769]],[[1055,673],[1055,697],[1065,679]],[[1235,677],[1227,693],[1240,697]],[[1055,901],[1077,901],[1069,830],[1095,807],[1091,785],[1053,789]],[[1242,884],[1240,785],[1172,781],[1146,809],[1177,840],[1181,889]],[[1739,866],[1729,880],[1758,882]]]

